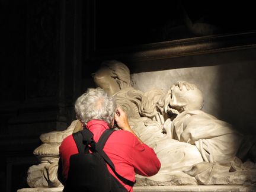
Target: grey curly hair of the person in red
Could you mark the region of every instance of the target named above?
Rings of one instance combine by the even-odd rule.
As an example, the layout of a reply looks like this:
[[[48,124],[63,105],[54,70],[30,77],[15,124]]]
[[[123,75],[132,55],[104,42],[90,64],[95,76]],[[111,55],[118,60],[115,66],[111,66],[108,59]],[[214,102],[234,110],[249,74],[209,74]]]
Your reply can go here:
[[[109,127],[112,126],[114,113],[116,111],[116,100],[107,95],[101,88],[89,88],[75,103],[76,118],[83,124],[92,119],[104,120]]]

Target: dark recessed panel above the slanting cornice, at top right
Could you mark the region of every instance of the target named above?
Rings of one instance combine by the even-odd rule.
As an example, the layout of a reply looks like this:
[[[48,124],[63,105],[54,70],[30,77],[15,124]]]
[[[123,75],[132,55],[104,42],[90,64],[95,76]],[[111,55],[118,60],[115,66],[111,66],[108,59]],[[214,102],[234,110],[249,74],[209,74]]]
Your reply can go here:
[[[254,6],[220,1],[95,1],[95,47],[256,30]]]

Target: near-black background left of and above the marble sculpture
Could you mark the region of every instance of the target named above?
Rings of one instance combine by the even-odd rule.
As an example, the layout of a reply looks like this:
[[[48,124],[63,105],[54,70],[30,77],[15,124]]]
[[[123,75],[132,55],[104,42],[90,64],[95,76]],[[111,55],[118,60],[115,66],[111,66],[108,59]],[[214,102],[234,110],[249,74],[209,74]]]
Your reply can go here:
[[[152,49],[151,43],[186,46],[195,37],[214,44],[208,37],[256,29],[254,6],[246,1],[1,0],[0,12],[0,191],[28,187],[39,136],[75,119],[73,103],[94,87],[91,73],[103,60],[119,59],[131,73],[195,66],[157,66],[145,57],[138,63],[131,53]],[[196,33],[188,18],[199,25]],[[255,44],[255,35],[217,40],[221,48],[244,46]],[[171,56],[191,53],[178,54]]]

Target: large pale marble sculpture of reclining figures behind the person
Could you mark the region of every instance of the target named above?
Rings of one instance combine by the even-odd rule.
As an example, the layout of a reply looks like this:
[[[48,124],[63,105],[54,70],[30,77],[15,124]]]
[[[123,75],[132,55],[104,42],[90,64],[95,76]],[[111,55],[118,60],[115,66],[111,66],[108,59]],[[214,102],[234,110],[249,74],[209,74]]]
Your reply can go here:
[[[116,98],[132,129],[161,161],[158,174],[137,175],[136,185],[256,183],[255,140],[204,113],[203,96],[196,85],[179,81],[167,93],[161,89],[142,92],[132,87],[127,66],[116,60],[103,62],[93,78],[98,87]],[[63,132],[40,136],[43,144],[34,155],[41,163],[28,169],[30,187],[62,186],[57,180],[58,148],[66,136],[81,129],[75,120]]]

